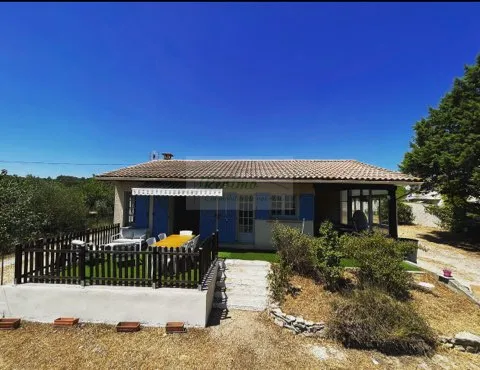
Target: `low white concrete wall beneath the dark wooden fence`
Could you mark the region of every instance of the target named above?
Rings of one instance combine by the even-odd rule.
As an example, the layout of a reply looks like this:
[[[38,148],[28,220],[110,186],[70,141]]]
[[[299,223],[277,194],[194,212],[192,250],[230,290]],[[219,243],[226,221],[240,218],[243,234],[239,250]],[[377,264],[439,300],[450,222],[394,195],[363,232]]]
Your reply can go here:
[[[53,322],[58,317],[78,317],[83,322],[94,323],[139,321],[145,326],[165,326],[168,321],[183,321],[187,326],[205,327],[215,281],[203,291],[107,286],[82,288],[60,284],[4,285],[0,289],[0,314],[27,321]]]

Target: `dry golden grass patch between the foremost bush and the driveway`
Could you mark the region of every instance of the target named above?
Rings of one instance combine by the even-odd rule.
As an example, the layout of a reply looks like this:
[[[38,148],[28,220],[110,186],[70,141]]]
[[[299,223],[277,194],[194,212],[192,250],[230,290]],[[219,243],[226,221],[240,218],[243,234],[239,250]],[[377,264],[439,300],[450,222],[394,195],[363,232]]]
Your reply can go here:
[[[438,334],[453,335],[464,330],[480,334],[480,307],[477,304],[431,274],[419,274],[415,280],[435,285],[432,293],[414,290],[412,295],[415,308]]]

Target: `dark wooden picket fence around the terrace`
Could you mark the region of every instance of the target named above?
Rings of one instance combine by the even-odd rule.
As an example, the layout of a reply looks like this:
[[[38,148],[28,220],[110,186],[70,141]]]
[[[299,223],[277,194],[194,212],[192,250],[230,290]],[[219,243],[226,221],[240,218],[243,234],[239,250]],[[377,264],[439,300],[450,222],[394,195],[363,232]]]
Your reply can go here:
[[[104,229],[104,228],[101,228]],[[195,249],[107,246],[111,235],[89,231],[84,237],[18,245],[15,283],[201,288],[218,256],[218,233]],[[103,242],[72,246],[72,239]],[[105,243],[107,242],[107,243]]]

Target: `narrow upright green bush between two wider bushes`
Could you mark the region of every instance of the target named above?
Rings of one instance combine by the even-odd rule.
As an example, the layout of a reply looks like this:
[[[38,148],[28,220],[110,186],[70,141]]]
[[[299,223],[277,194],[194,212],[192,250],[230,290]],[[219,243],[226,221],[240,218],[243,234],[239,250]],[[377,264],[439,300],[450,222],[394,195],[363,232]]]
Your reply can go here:
[[[316,268],[326,288],[337,290],[342,283],[342,267],[340,261],[343,256],[338,232],[330,221],[320,225],[320,237],[313,238],[316,243]]]

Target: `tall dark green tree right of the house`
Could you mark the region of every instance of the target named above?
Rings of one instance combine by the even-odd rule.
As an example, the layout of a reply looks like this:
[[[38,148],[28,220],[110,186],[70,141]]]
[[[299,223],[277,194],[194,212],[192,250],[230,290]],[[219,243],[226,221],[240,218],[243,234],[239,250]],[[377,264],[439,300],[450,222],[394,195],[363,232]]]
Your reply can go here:
[[[403,172],[422,177],[424,190],[437,190],[451,206],[452,231],[467,224],[467,198],[480,196],[480,55],[465,75],[418,121]]]

